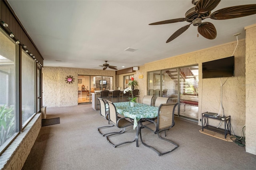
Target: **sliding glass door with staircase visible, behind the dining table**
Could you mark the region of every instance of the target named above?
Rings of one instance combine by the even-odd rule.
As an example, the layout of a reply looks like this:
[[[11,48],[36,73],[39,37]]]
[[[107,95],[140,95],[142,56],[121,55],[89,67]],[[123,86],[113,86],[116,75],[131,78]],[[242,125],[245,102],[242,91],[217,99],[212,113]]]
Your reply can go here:
[[[198,65],[148,72],[148,95],[179,103],[175,115],[198,120]]]

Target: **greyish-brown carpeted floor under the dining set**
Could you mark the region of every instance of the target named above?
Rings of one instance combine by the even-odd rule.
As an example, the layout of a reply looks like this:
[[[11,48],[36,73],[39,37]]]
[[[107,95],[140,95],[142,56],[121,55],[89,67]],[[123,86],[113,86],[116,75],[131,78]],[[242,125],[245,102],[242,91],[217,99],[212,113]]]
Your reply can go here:
[[[54,117],[62,122],[41,128],[23,170],[254,170],[256,166],[256,155],[247,153],[245,147],[202,134],[197,123],[180,118],[175,118],[175,126],[166,131],[166,138],[179,147],[158,156],[140,140],[138,148],[135,142],[111,146],[97,132],[97,127],[108,125],[108,121],[91,105],[47,107],[47,118]],[[116,127],[102,129],[110,130]],[[122,142],[135,135],[136,130],[128,127],[110,140]],[[147,129],[142,129],[142,137],[160,150],[170,146]]]

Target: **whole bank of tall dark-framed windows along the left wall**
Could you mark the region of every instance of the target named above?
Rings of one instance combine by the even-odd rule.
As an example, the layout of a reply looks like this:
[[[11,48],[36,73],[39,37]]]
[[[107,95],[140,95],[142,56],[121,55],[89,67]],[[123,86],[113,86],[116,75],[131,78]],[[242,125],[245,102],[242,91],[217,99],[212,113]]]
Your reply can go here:
[[[19,50],[0,28],[0,153],[36,113],[36,77],[40,73],[36,74],[36,61]]]

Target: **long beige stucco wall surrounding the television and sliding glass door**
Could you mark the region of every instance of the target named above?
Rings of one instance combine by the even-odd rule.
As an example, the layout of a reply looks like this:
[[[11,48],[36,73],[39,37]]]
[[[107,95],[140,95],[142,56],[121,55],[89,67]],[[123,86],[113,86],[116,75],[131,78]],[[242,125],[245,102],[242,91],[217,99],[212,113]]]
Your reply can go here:
[[[199,105],[198,105],[198,125],[200,125],[201,113],[206,111],[218,113],[220,110],[220,82],[226,83],[222,86],[222,105],[226,116],[231,116],[231,125],[234,133],[241,135],[242,127],[245,125],[245,40],[226,43],[211,47],[208,49],[194,51],[167,59],[162,59],[152,63],[146,63],[140,66],[139,70],[134,73],[138,80],[140,89],[140,99],[147,94],[147,72],[160,69],[169,69],[175,67],[184,67],[198,64],[199,66]],[[236,51],[234,52],[234,49]],[[235,56],[235,77],[202,79],[202,62],[230,57],[234,52]],[[143,79],[138,79],[139,75]],[[119,86],[123,84],[123,76],[119,75]],[[218,126],[219,121],[210,121],[210,125]],[[224,124],[220,125],[224,128]]]

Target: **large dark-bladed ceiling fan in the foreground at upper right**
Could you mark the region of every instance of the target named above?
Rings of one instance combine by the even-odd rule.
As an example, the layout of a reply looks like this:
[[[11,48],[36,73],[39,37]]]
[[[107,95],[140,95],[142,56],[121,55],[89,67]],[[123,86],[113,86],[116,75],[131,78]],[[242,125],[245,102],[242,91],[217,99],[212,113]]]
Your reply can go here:
[[[149,25],[170,24],[183,21],[191,22],[190,24],[183,26],[174,32],[174,34],[168,38],[166,43],[180,36],[180,34],[185,32],[191,24],[193,24],[193,26],[198,26],[197,30],[199,34],[201,34],[204,38],[213,40],[217,36],[216,28],[212,23],[202,22],[202,20],[206,18],[211,18],[213,20],[227,20],[256,14],[256,4],[232,6],[222,8],[211,13],[211,11],[216,8],[219,3],[220,0],[192,0],[192,4],[195,6],[186,12],[185,18],[164,20],[160,22],[154,22]]]

